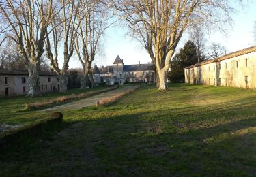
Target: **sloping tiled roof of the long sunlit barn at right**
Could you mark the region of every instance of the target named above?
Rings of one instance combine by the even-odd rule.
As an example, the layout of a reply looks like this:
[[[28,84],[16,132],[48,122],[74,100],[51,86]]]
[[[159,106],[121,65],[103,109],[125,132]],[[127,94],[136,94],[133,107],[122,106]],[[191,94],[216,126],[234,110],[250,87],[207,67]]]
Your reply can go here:
[[[216,59],[202,61],[202,62],[197,63],[195,65],[185,67],[184,69],[189,69],[189,68],[193,68],[193,67],[197,67],[197,66],[201,66],[201,65],[206,65],[206,64],[209,64],[209,63],[214,63],[216,61],[223,61],[223,60],[226,60],[226,59],[231,59],[233,57],[239,57],[243,54],[248,54],[248,53],[252,53],[252,52],[256,52],[256,46],[252,46],[252,47],[249,47],[249,48],[244,48],[244,49],[238,50],[236,52],[231,52],[230,54],[225,54],[225,55],[223,55],[221,57],[218,57]]]

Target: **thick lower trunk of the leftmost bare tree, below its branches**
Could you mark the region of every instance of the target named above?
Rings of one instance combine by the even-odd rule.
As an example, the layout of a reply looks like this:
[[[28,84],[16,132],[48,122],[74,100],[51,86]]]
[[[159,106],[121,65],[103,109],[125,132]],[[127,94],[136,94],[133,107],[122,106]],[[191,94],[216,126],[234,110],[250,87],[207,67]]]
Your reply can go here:
[[[27,70],[29,71],[29,91],[27,97],[40,96],[40,78],[39,78],[39,65],[30,65]]]

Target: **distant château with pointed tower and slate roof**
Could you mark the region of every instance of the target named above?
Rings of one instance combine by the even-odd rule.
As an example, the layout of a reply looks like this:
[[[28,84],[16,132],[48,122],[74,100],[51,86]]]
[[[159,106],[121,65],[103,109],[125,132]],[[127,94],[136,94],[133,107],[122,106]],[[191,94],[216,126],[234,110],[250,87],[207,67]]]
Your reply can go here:
[[[124,84],[125,82],[153,82],[154,80],[152,64],[141,64],[139,61],[138,64],[124,65],[123,60],[118,55],[112,66],[97,67],[98,70],[95,67],[94,78],[98,77],[98,72],[100,72],[101,83],[109,85]],[[99,81],[98,78],[97,81]]]

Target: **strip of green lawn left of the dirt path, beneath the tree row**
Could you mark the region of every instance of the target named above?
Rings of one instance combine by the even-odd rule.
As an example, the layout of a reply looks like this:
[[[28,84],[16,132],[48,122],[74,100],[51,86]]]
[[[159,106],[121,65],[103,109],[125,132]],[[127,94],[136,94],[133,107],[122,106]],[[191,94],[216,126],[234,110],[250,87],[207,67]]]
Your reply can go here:
[[[33,103],[37,101],[44,101],[48,99],[53,99],[56,97],[61,97],[65,95],[72,95],[73,93],[89,93],[92,91],[104,90],[107,87],[99,86],[96,88],[80,89],[71,88],[66,93],[52,92],[52,93],[42,93],[42,97],[25,97],[25,95],[19,95],[15,97],[3,97],[0,98],[0,120],[2,123],[8,124],[22,124],[26,125],[31,123],[33,120],[38,120],[48,116],[47,112],[38,114],[35,111],[25,110],[26,103]],[[61,103],[59,103],[61,104]],[[22,111],[20,111],[22,110]]]

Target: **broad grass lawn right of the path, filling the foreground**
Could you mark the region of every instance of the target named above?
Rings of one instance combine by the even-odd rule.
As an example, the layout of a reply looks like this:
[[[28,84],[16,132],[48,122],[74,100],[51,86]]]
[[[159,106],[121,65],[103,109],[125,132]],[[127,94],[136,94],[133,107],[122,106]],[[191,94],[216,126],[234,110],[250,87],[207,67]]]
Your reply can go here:
[[[142,86],[0,152],[0,176],[256,176],[256,91]]]

